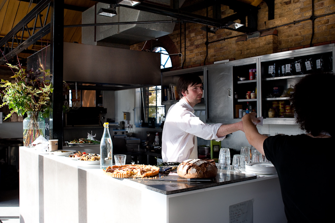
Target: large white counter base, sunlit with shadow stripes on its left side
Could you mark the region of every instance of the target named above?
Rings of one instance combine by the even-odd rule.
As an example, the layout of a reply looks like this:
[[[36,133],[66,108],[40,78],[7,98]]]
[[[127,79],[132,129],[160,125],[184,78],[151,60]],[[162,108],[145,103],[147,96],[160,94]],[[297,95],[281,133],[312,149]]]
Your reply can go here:
[[[277,176],[166,195],[20,147],[20,222],[230,222],[247,201],[254,222],[286,222]]]

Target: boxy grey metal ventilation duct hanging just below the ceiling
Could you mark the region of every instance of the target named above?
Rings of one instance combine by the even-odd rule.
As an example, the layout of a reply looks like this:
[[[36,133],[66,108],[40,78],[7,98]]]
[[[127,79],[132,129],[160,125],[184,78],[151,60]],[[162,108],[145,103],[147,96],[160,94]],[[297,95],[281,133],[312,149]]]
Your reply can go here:
[[[180,0],[179,5],[181,6],[184,1]],[[168,2],[170,4],[170,0]],[[161,0],[159,4],[165,3]],[[107,9],[108,6],[108,4],[97,3],[82,12],[82,24],[176,20],[176,18],[125,7],[116,7],[117,15],[113,17],[97,14],[101,8]],[[174,22],[86,26],[81,30],[81,42],[90,45],[129,48],[129,45],[171,34],[174,27]]]

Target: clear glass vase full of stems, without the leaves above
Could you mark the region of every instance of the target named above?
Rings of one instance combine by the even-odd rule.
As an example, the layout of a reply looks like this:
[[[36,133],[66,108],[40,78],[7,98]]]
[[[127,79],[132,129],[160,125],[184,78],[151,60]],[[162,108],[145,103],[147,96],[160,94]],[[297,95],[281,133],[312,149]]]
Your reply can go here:
[[[23,145],[29,147],[40,135],[45,137],[45,120],[39,111],[28,111],[23,119]]]

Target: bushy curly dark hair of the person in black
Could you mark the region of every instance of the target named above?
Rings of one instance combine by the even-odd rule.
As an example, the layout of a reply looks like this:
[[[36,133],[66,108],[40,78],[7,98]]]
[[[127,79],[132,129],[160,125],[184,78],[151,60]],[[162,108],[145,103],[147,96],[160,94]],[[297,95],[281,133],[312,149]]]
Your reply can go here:
[[[330,73],[309,74],[296,83],[290,100],[302,130],[313,136],[323,131],[334,136],[335,119],[326,110],[334,101],[334,86],[335,75]]]

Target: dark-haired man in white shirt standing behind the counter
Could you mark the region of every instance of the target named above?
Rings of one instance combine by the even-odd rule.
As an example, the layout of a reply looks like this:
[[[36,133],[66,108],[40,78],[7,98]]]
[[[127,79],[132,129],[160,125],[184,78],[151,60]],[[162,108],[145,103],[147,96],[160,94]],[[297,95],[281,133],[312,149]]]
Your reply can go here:
[[[198,158],[197,136],[204,140],[224,140],[227,134],[241,130],[242,121],[223,125],[205,124],[194,115],[194,105],[201,102],[202,80],[197,75],[183,75],[177,83],[181,98],[167,111],[162,133],[162,159],[164,162],[182,162]]]

